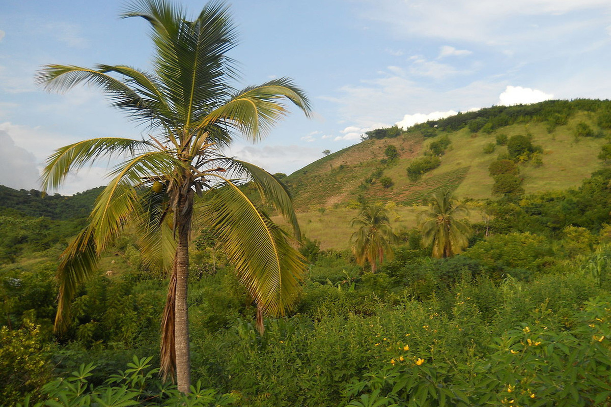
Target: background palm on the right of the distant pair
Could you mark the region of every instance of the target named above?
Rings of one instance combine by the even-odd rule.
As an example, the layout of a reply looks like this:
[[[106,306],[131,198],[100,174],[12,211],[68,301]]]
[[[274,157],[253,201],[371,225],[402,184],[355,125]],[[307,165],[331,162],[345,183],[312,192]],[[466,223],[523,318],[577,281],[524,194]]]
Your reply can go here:
[[[471,229],[461,222],[469,214],[463,204],[459,204],[450,192],[433,195],[428,211],[419,215],[422,231],[422,245],[433,245],[434,258],[450,258],[469,245]]]

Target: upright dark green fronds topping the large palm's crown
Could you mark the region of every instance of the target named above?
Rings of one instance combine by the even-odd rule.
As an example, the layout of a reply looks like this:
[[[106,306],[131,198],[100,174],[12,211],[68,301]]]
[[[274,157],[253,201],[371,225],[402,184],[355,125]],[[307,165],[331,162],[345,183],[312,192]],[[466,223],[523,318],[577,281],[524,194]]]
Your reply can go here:
[[[225,54],[235,45],[227,5],[211,2],[189,22],[180,8],[166,1],[144,0],[124,16],[140,16],[152,24],[155,71],[181,125],[189,128],[191,121],[225,100],[234,73]]]

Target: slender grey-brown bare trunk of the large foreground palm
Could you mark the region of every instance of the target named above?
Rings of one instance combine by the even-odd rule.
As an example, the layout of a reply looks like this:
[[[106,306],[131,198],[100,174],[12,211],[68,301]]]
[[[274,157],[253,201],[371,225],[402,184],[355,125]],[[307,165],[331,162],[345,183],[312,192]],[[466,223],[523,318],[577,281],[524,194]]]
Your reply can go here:
[[[178,246],[176,250],[175,347],[176,380],[178,391],[187,394],[191,387],[191,359],[189,356],[189,314],[187,283],[189,278],[189,226],[191,200],[185,196],[178,205]]]

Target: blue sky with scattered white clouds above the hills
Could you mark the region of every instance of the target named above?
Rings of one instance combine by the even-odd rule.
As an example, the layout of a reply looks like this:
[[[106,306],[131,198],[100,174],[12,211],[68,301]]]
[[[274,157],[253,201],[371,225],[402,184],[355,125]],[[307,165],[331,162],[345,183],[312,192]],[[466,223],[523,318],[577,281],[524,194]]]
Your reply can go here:
[[[147,24],[126,2],[4,0],[0,7],[0,184],[40,189],[54,149],[81,139],[141,137],[98,90],[34,85],[46,63],[149,68]],[[192,15],[201,1],[183,1]],[[493,104],[611,95],[608,0],[230,1],[241,88],[289,76],[314,117],[294,110],[265,141],[227,153],[291,173],[381,126],[409,126]],[[104,184],[106,162],[61,193]]]

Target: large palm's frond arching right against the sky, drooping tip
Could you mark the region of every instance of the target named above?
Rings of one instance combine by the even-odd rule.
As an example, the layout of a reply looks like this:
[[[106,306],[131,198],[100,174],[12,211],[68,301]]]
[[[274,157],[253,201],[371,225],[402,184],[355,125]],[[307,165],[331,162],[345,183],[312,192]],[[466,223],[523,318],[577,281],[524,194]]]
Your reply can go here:
[[[309,116],[312,108],[303,91],[290,79],[280,78],[248,87],[196,123],[206,128],[222,121],[238,129],[247,139],[258,141],[287,114],[282,99],[288,99]]]

